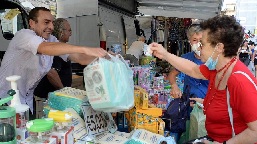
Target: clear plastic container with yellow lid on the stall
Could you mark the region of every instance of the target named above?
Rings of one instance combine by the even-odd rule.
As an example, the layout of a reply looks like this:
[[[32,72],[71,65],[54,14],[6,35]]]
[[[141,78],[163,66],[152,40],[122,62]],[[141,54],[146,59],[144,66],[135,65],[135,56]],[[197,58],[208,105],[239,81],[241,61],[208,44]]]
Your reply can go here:
[[[66,132],[71,128],[73,116],[69,112],[50,110],[48,118],[53,118],[54,120],[53,131]]]

